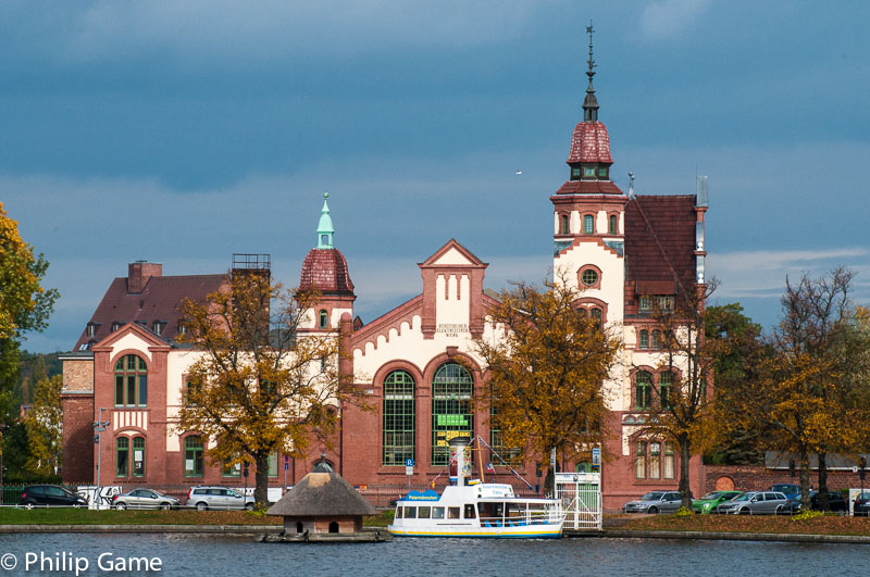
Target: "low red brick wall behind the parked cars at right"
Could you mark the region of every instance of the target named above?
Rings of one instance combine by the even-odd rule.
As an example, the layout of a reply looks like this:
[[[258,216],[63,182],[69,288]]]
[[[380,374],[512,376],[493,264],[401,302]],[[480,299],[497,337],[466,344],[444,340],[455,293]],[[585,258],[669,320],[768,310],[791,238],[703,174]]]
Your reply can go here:
[[[788,471],[769,469],[763,465],[708,465],[706,468],[705,492],[730,488],[743,491],[760,491],[770,489],[770,486],[775,482],[800,482],[797,473],[793,478]],[[832,491],[857,488],[860,487],[860,482],[856,473],[846,471],[828,472],[828,488]],[[733,485],[729,487],[729,484]],[[810,472],[809,484],[811,487],[818,488],[818,472]]]

